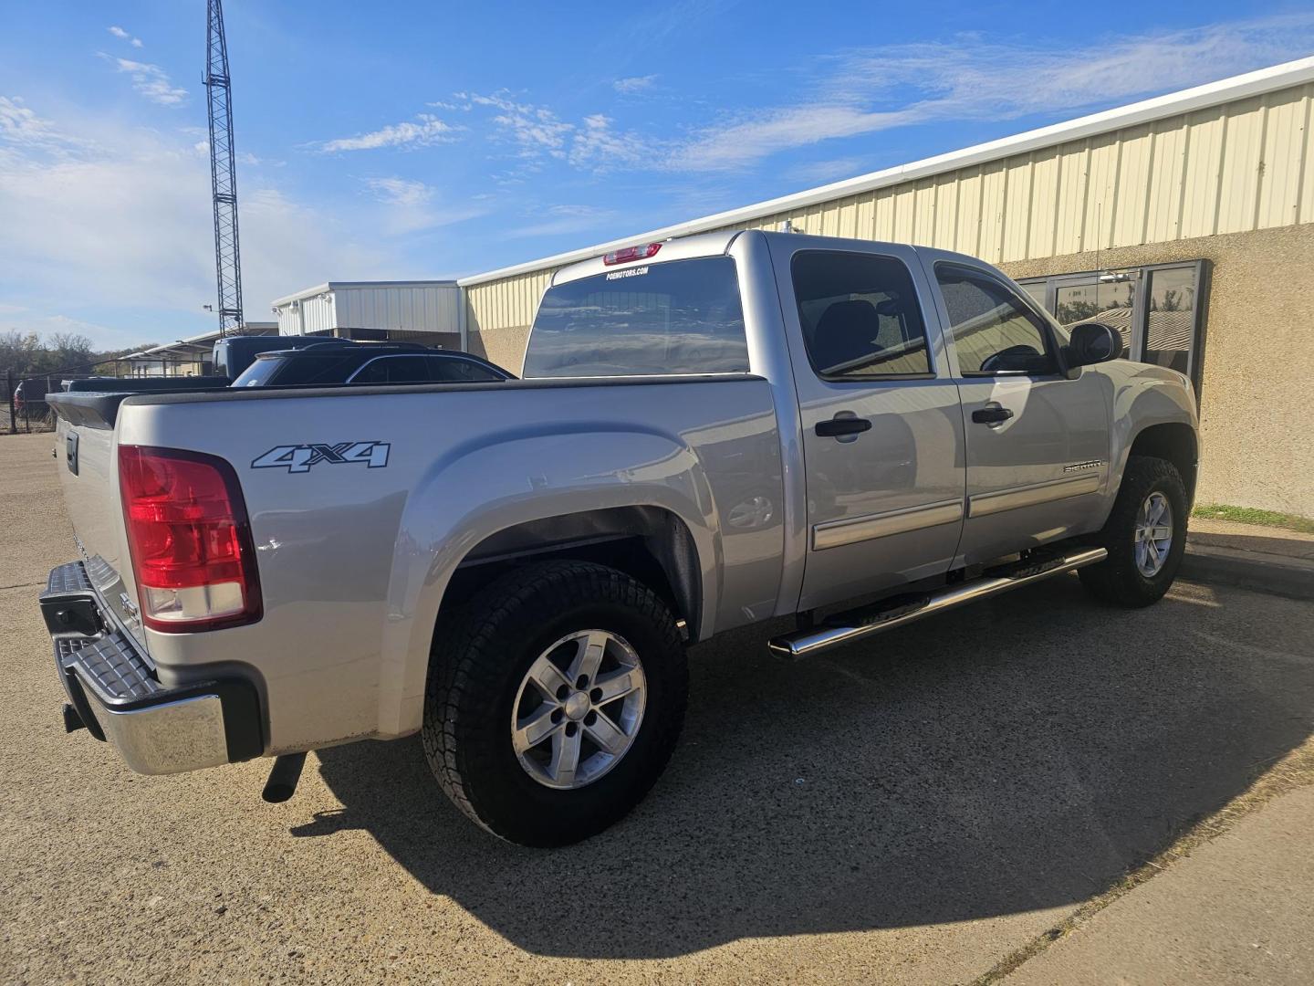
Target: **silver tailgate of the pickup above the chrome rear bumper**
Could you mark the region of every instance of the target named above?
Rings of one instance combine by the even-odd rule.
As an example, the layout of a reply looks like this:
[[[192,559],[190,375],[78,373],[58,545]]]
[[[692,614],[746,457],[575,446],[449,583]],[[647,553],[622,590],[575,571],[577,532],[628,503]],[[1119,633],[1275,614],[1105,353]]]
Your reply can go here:
[[[118,400],[108,394],[59,393],[50,405],[59,415],[55,454],[64,505],[74,526],[79,557],[105,607],[116,615],[145,647],[137,615],[137,586],[133,585],[124,511],[118,498],[117,442],[114,418]]]

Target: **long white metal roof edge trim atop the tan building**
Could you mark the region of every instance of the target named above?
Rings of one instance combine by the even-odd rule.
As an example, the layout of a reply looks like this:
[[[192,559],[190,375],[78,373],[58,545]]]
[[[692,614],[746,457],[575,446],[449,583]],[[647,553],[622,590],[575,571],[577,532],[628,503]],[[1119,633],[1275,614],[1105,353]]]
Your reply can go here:
[[[1042,126],[1035,130],[1014,134],[1013,137],[1004,137],[997,141],[979,143],[972,147],[951,151],[949,154],[924,158],[909,164],[899,164],[883,171],[874,171],[871,174],[859,175],[844,181],[833,181],[827,185],[819,185],[817,188],[795,192],[794,195],[779,199],[770,199],[767,201],[756,202],[740,209],[731,209],[728,212],[704,216],[702,218],[690,220],[674,226],[662,226],[661,229],[650,230],[648,233],[639,233],[620,239],[612,239],[606,243],[583,247],[582,250],[572,250],[564,254],[545,256],[540,260],[531,260],[528,263],[514,264],[511,267],[502,267],[486,273],[461,277],[457,280],[457,284],[463,288],[486,284],[505,277],[561,267],[577,260],[586,260],[598,256],[599,254],[606,254],[611,250],[635,243],[671,239],[674,237],[686,237],[692,233],[706,233],[708,230],[735,226],[737,223],[746,223],[759,220],[763,216],[771,216],[773,213],[799,209],[817,202],[833,201],[845,196],[896,185],[904,181],[924,179],[933,175],[957,171],[959,168],[974,167],[976,164],[1009,158],[1016,154],[1026,154],[1028,151],[1054,147],[1060,143],[1067,143],[1068,141],[1077,141],[1097,134],[1112,133],[1125,128],[1137,126],[1139,124],[1162,120],[1164,117],[1189,113],[1197,109],[1206,109],[1209,106],[1217,106],[1234,100],[1246,99],[1248,96],[1275,92],[1277,89],[1300,85],[1307,82],[1314,82],[1314,57],[1302,58],[1296,62],[1285,62],[1269,68],[1260,68],[1255,72],[1246,72],[1244,75],[1236,75],[1230,79],[1197,85],[1190,89],[1183,89],[1180,92],[1156,96],[1154,99],[1142,100],[1141,103],[1133,103],[1116,109],[1092,113],[1067,122]]]

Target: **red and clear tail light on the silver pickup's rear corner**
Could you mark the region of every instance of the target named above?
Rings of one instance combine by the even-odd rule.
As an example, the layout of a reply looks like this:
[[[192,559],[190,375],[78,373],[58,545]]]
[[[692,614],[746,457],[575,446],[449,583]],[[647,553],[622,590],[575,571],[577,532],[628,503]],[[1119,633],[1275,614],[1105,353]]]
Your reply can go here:
[[[146,626],[192,632],[260,619],[251,527],[229,463],[120,446],[118,485]]]

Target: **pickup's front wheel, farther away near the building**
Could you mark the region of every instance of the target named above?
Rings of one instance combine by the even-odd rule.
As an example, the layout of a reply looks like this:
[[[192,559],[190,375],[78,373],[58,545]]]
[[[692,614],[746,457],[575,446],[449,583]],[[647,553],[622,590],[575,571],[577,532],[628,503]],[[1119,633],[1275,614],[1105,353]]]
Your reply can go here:
[[[1095,543],[1109,556],[1080,569],[1092,596],[1127,609],[1163,598],[1187,550],[1187,488],[1177,468],[1166,459],[1130,456]]]

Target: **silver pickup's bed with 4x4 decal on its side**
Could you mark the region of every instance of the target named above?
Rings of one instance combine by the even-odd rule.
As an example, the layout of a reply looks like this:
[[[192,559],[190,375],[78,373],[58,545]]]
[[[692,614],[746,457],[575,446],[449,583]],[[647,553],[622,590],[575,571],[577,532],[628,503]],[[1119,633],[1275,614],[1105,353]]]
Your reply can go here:
[[[344,722],[360,736],[413,731],[443,588],[485,538],[520,521],[658,505],[707,560],[692,573],[707,603],[694,636],[778,606],[781,443],[771,385],[756,376],[64,393],[54,406],[66,460],[76,446],[66,500],[105,605],[166,685],[231,663],[243,640],[279,651],[276,665],[256,655],[251,669],[280,710],[275,752],[340,739]],[[258,624],[163,634],[135,621],[120,444],[234,467],[259,564]],[[305,468],[280,451],[373,446],[386,450],[372,461],[311,455]]]

